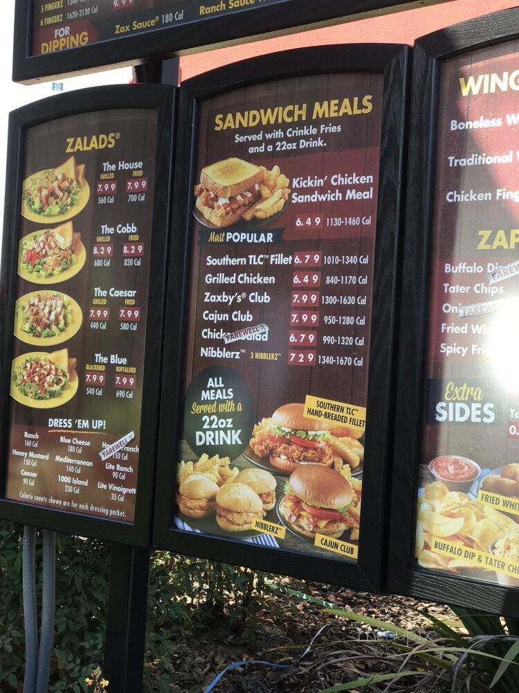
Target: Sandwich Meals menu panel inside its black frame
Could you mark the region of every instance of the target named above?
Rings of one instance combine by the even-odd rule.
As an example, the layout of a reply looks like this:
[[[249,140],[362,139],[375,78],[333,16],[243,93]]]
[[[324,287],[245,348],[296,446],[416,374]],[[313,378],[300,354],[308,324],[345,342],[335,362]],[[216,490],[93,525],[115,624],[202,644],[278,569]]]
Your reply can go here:
[[[199,105],[174,525],[356,561],[383,76]]]

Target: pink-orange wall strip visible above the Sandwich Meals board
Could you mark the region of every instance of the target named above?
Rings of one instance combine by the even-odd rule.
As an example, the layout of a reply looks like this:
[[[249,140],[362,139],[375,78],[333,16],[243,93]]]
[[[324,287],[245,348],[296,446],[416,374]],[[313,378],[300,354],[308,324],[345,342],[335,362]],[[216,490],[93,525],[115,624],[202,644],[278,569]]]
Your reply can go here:
[[[294,0],[297,2],[298,0]],[[326,0],[321,0],[325,2]],[[345,0],[347,2],[347,0]],[[252,58],[255,55],[284,51],[302,46],[337,43],[408,43],[418,36],[457,24],[488,12],[516,7],[517,0],[454,0],[434,7],[406,10],[394,15],[362,19],[349,24],[338,24],[322,29],[304,31],[242,46],[219,49],[181,58],[181,78],[187,80],[201,72],[215,69],[229,62]]]

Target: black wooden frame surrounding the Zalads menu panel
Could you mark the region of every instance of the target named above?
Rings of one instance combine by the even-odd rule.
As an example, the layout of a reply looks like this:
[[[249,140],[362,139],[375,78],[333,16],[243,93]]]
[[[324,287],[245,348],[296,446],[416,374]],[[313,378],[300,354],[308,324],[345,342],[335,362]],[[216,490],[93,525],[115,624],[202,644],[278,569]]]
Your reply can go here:
[[[19,244],[22,177],[26,137],[30,128],[65,116],[109,109],[155,109],[158,116],[156,141],[156,186],[152,235],[156,247],[167,250],[170,222],[170,188],[174,146],[176,88],[149,85],[118,85],[72,91],[31,103],[10,114],[6,177],[6,209],[0,280],[1,389],[0,398],[0,517],[68,534],[79,534],[122,544],[149,546],[153,513],[158,407],[161,367],[157,355],[163,344],[163,310],[167,273],[167,252],[154,252],[149,273],[147,331],[143,365],[143,404],[140,419],[140,464],[136,484],[134,523],[94,518],[47,509],[6,499],[7,448],[9,444],[10,373],[12,326],[15,317],[15,289]]]

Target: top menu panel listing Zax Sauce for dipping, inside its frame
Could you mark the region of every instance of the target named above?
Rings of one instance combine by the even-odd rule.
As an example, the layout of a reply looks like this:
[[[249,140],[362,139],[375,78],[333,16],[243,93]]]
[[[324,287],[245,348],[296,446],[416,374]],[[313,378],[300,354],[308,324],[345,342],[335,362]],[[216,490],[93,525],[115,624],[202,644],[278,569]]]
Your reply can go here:
[[[32,55],[293,0],[33,0]],[[217,38],[215,37],[215,41]]]

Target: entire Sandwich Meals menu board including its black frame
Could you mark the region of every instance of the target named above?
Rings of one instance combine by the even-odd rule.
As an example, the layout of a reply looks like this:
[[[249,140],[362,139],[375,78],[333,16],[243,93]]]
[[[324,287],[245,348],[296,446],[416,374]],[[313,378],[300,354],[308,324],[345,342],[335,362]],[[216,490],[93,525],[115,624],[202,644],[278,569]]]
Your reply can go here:
[[[287,51],[183,88],[156,546],[378,588],[406,58]]]

